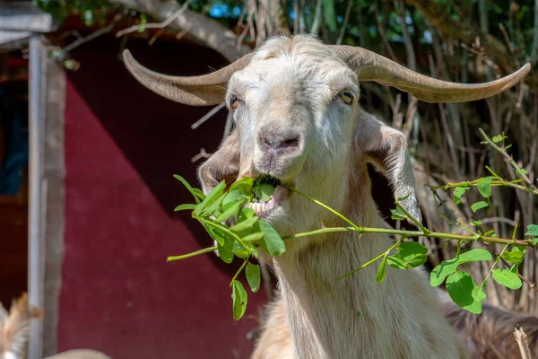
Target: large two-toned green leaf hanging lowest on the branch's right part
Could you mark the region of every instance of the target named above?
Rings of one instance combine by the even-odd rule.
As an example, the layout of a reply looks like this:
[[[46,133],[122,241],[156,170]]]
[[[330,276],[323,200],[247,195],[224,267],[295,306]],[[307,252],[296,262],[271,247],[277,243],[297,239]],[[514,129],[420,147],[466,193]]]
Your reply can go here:
[[[474,314],[482,312],[482,301],[485,298],[483,288],[476,285],[467,272],[458,271],[448,276],[447,292],[450,298],[464,310]]]

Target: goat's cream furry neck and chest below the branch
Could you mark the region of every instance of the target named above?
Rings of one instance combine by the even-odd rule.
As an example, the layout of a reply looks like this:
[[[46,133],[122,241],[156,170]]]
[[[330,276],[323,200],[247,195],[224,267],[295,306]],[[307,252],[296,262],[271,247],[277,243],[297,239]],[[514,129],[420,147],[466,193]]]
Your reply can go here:
[[[371,199],[361,206],[372,209],[369,215],[352,210],[344,215],[364,226],[384,225]],[[377,285],[377,262],[338,280],[392,242],[386,235],[331,233],[276,259],[297,357],[460,357],[456,335],[417,270],[388,268]]]

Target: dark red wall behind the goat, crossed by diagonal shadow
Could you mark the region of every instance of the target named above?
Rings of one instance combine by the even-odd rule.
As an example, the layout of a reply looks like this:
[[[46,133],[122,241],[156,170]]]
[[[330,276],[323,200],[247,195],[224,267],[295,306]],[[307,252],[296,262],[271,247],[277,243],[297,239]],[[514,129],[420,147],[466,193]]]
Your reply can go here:
[[[169,74],[203,74],[225,65],[212,51],[129,42],[134,57]],[[265,293],[249,294],[246,318],[231,316],[236,267],[213,255],[167,263],[210,239],[172,209],[190,197],[172,178],[195,182],[190,158],[214,151],[221,113],[189,108],[143,88],[101,39],[74,52],[65,109],[65,260],[58,350],[93,348],[114,358],[247,358]],[[211,66],[211,67],[210,67]],[[249,318],[250,317],[250,318]]]

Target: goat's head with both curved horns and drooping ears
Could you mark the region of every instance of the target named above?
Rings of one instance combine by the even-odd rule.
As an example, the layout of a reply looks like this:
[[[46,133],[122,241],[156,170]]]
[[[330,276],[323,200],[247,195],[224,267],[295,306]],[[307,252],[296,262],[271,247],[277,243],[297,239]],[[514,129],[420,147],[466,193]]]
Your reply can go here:
[[[422,101],[483,99],[518,83],[530,66],[491,83],[447,83],[412,72],[363,48],[326,46],[308,36],[273,38],[255,53],[213,74],[176,77],[154,73],[126,51],[126,66],[154,92],[195,106],[226,101],[235,129],[199,169],[204,191],[220,180],[268,175],[337,210],[359,186],[369,196],[366,162],[386,170],[395,197],[416,215],[414,179],[405,137],[360,110],[361,81],[410,92]],[[359,170],[358,170],[359,169]],[[362,186],[361,186],[362,185]],[[326,212],[278,187],[258,215],[281,232],[319,228]],[[325,222],[326,223],[326,222]]]

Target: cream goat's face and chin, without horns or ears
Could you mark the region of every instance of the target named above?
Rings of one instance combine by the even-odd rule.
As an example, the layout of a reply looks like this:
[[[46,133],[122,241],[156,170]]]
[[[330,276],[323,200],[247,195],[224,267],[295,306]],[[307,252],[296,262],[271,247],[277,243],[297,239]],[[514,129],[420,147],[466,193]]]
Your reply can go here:
[[[290,187],[337,205],[343,197],[344,168],[349,166],[353,121],[357,118],[357,75],[316,40],[270,41],[250,64],[235,73],[226,101],[236,126],[237,178],[271,176]],[[228,165],[230,163],[221,163]],[[200,178],[212,187],[222,178],[214,171]],[[212,178],[213,177],[213,178]],[[322,218],[287,188],[279,186],[267,203],[253,206],[281,233],[319,226]]]

